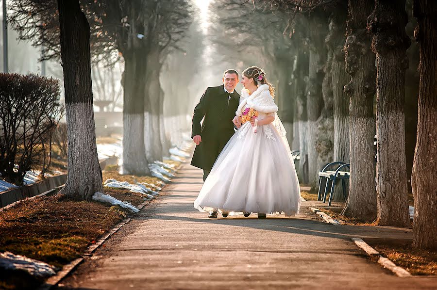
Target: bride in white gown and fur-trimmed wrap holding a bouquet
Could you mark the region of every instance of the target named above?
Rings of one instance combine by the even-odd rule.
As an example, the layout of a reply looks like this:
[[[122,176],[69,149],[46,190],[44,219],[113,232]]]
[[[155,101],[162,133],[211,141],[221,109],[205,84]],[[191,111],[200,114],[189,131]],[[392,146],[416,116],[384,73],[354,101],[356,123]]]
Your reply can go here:
[[[194,208],[220,209],[223,217],[241,212],[246,217],[256,212],[258,218],[281,212],[293,216],[299,213],[299,180],[273,102],[274,88],[256,66],[243,71],[241,83],[233,120],[239,129],[214,163]]]

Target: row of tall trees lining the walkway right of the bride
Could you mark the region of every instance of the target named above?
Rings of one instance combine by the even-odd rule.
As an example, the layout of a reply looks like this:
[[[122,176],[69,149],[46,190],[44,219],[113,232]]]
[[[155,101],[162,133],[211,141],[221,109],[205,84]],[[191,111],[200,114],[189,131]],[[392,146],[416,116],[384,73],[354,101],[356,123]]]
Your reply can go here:
[[[408,20],[406,10],[412,7],[415,18],[410,15]],[[436,29],[432,20],[436,5],[429,1],[414,1],[413,6],[386,0],[223,0],[214,13],[222,24],[218,29],[226,36],[220,45],[244,52],[243,58],[248,59],[243,61],[263,65],[270,79],[278,80],[279,114],[290,145],[301,151],[301,179],[315,188],[317,173],[326,162],[350,161],[350,193],[343,210],[347,216],[376,219],[378,225],[409,226],[407,163],[411,168],[410,148],[415,142],[411,135],[415,135],[418,114],[414,100],[417,106],[420,85],[412,174],[414,244],[437,248],[437,194],[431,186],[437,165],[430,158],[436,149],[430,144],[436,132],[437,95],[432,81],[436,55],[430,50],[436,46],[431,36]],[[419,73],[408,65],[411,41],[405,31],[412,32],[416,22]],[[414,55],[417,51],[414,45],[409,52],[413,64],[419,59],[419,53]],[[406,73],[413,76],[407,83]],[[407,138],[405,124],[410,126]]]

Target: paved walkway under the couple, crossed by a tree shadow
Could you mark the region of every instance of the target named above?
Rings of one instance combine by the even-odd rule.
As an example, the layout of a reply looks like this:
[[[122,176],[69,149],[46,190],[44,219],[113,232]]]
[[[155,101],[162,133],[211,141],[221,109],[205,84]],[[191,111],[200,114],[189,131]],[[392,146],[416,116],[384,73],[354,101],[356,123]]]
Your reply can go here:
[[[370,262],[351,237],[411,237],[397,228],[294,219],[211,220],[193,209],[202,172],[184,165],[151,205],[62,283],[67,289],[435,289]],[[307,202],[308,203],[308,202]],[[308,206],[308,205],[306,205]],[[63,289],[65,289],[62,287]]]

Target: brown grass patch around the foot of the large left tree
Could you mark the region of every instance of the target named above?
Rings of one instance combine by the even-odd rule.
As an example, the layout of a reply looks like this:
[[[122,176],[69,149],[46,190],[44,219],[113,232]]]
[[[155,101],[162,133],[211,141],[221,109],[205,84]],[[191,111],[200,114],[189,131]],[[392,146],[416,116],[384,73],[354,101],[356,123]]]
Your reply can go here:
[[[0,251],[61,268],[123,217],[118,207],[97,202],[58,196],[25,200],[0,212]]]

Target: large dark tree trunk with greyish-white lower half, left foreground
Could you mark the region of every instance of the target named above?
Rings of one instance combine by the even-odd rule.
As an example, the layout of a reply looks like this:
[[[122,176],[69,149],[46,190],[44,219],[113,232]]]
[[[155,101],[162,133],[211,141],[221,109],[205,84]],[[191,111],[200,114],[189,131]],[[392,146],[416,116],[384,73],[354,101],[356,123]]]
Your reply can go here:
[[[68,174],[63,188],[76,200],[103,192],[97,157],[91,83],[90,28],[78,0],[58,0],[68,136]]]

